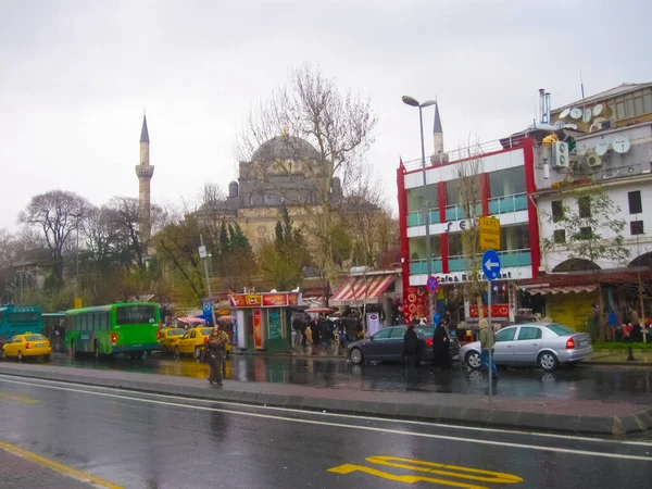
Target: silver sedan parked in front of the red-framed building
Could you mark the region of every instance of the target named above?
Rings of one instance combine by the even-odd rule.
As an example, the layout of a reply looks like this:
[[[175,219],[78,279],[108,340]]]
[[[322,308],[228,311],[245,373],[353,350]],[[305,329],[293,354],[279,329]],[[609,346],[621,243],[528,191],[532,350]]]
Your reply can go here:
[[[497,365],[538,365],[546,372],[559,364],[575,364],[593,353],[591,337],[563,324],[529,323],[502,328],[496,334],[493,361]],[[480,342],[460,349],[460,360],[471,368],[480,367]]]

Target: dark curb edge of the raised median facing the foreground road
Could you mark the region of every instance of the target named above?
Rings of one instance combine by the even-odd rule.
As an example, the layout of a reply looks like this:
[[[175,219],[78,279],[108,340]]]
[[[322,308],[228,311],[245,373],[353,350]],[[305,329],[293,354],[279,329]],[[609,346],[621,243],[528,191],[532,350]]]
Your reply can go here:
[[[325,399],[240,389],[217,390],[208,386],[201,388],[165,385],[162,388],[156,384],[140,380],[89,379],[88,377],[74,374],[63,377],[52,372],[12,372],[11,369],[7,372],[0,368],[0,374],[14,377],[65,381],[89,387],[109,387],[125,391],[179,396],[188,399],[451,425],[463,424],[480,427],[612,436],[642,432],[652,428],[652,405],[645,406],[637,414],[624,416],[567,416],[551,413],[499,410],[489,405],[471,408],[463,405],[422,405],[401,402]],[[486,399],[482,402],[491,403],[491,399]]]

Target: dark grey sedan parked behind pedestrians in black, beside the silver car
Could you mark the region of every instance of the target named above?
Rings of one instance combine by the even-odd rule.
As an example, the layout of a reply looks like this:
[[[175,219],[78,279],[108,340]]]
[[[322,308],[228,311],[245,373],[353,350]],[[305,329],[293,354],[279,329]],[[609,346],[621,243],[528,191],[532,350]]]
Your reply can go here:
[[[408,326],[391,326],[376,331],[371,338],[349,343],[348,356],[351,363],[360,365],[363,362],[402,362],[403,361],[403,337]],[[416,326],[416,336],[421,348],[421,360],[431,361],[432,335],[435,328],[430,326]],[[449,349],[451,358],[456,356],[460,342],[456,337],[451,338]]]

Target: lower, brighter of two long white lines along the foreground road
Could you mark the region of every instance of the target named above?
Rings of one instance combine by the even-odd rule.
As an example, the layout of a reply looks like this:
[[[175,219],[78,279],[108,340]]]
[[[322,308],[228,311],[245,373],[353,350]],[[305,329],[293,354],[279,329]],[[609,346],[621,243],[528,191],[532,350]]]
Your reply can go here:
[[[30,386],[30,387],[35,387],[35,385],[36,385],[37,387],[42,387],[46,389],[64,390],[64,391],[68,391],[68,392],[86,393],[86,394],[100,396],[100,397],[106,397],[106,398],[112,398],[112,399],[123,399],[123,400],[127,400],[127,401],[145,402],[145,403],[149,403],[149,404],[160,404],[160,405],[167,405],[167,406],[174,406],[174,408],[186,408],[186,409],[196,410],[196,411],[209,411],[209,412],[216,412],[216,413],[234,414],[234,411],[229,411],[229,410],[221,409],[221,408],[209,408],[209,406],[202,406],[202,405],[183,404],[179,402],[158,401],[155,399],[133,398],[130,396],[113,394],[113,393],[108,393],[108,392],[95,392],[91,390],[75,389],[75,388],[71,388],[71,387],[38,385],[35,383],[25,383],[25,381],[21,381],[21,380],[0,379],[0,381],[7,381],[7,383],[11,383],[11,384],[17,384],[17,385],[24,385],[24,386]],[[331,422],[322,422],[322,421],[315,421],[315,419],[301,419],[301,418],[296,418],[296,417],[274,416],[272,414],[248,413],[244,411],[239,411],[239,412],[237,412],[237,414],[243,415],[243,416],[249,416],[249,417],[258,417],[258,418],[262,418],[262,419],[285,421],[285,422],[289,422],[289,423],[300,423],[300,424],[304,424],[304,425],[317,425],[317,426],[330,426],[330,427],[336,427],[336,428],[350,428],[350,429],[359,429],[359,430],[364,430],[364,431],[376,431],[376,432],[381,432],[381,434],[386,434],[386,435],[387,434],[403,435],[403,436],[408,436],[408,437],[431,438],[431,439],[438,439],[438,440],[459,441],[459,442],[465,442],[465,443],[510,447],[510,448],[518,448],[518,449],[525,449],[525,450],[538,450],[538,451],[543,451],[543,452],[570,453],[574,455],[601,456],[601,457],[605,457],[605,459],[637,460],[637,461],[652,462],[652,456],[628,455],[628,454],[623,454],[623,453],[591,452],[591,451],[587,451],[587,450],[574,450],[574,449],[564,449],[564,448],[555,448],[555,447],[541,447],[541,446],[536,446],[536,444],[502,442],[502,441],[494,441],[494,440],[459,438],[459,437],[452,437],[452,436],[448,436],[448,435],[435,435],[435,434],[428,434],[428,432],[412,432],[412,431],[404,431],[401,429],[385,429],[385,428],[376,428],[374,426],[359,426],[359,425],[349,425],[346,423],[331,423]]]

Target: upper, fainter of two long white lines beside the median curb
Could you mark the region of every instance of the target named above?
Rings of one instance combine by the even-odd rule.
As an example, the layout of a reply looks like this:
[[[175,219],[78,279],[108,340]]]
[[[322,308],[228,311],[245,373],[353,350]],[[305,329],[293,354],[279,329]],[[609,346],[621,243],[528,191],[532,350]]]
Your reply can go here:
[[[9,376],[9,375],[3,375],[0,374],[0,380],[2,379],[7,379],[8,381],[13,381],[11,380],[12,378],[15,378],[15,376]],[[29,385],[38,385],[36,384],[38,383],[47,383],[47,384],[53,384],[53,385],[64,385],[64,386],[79,386],[82,388],[87,388],[87,389],[101,389],[101,390],[108,390],[110,392],[128,392],[128,389],[118,389],[118,388],[114,388],[114,387],[103,387],[103,386],[92,386],[92,385],[87,385],[87,384],[77,384],[77,383],[64,383],[64,381],[60,381],[60,380],[50,380],[50,379],[45,379],[45,378],[35,378],[35,377],[23,377],[23,378],[28,378],[30,380],[34,380],[34,383],[29,383]],[[92,391],[90,391],[92,392]],[[597,437],[582,437],[582,436],[573,436],[573,435],[560,435],[560,434],[553,434],[553,432],[541,432],[541,431],[527,431],[527,430],[519,430],[519,429],[506,429],[506,428],[486,428],[486,427],[481,427],[481,426],[464,426],[464,425],[447,425],[443,423],[428,423],[428,422],[418,422],[418,421],[410,421],[410,419],[392,419],[392,418],[388,418],[388,417],[374,417],[374,416],[363,416],[363,415],[358,415],[358,414],[342,414],[342,413],[328,413],[328,412],[323,412],[323,411],[308,411],[308,410],[300,410],[300,409],[291,409],[291,408],[278,408],[278,406],[271,406],[271,405],[260,405],[260,404],[246,404],[242,402],[234,402],[234,401],[223,401],[223,400],[211,400],[211,399],[201,399],[201,398],[191,398],[191,397],[180,397],[180,396],[175,396],[175,394],[161,394],[161,393],[155,393],[155,392],[138,392],[139,396],[150,396],[150,397],[155,397],[155,398],[161,398],[161,399],[174,399],[176,401],[183,401],[183,402],[203,402],[203,403],[210,403],[210,404],[226,404],[226,405],[233,405],[233,406],[238,406],[238,408],[247,408],[247,409],[253,409],[253,410],[261,410],[261,411],[275,411],[275,412],[281,412],[281,413],[296,413],[296,414],[301,414],[301,415],[314,415],[314,416],[323,416],[323,417],[336,417],[336,418],[351,418],[351,419],[355,419],[355,421],[374,421],[374,422],[380,422],[380,423],[388,423],[388,424],[399,424],[399,425],[414,425],[414,426],[424,426],[424,427],[435,427],[435,428],[446,428],[446,429],[459,429],[459,430],[465,430],[465,431],[484,431],[484,432],[498,432],[501,435],[521,435],[521,436],[530,436],[530,437],[540,437],[540,438],[555,438],[559,440],[573,440],[573,441],[589,441],[589,442],[600,442],[600,443],[612,443],[612,444],[632,444],[632,446],[639,446],[639,447],[652,447],[652,441],[634,441],[634,440],[617,440],[617,439],[613,439],[613,438],[597,438]]]

